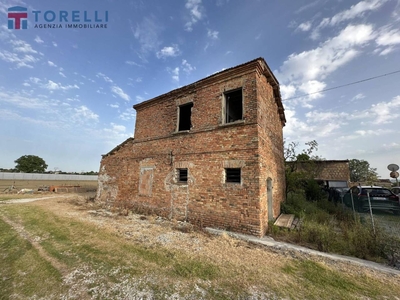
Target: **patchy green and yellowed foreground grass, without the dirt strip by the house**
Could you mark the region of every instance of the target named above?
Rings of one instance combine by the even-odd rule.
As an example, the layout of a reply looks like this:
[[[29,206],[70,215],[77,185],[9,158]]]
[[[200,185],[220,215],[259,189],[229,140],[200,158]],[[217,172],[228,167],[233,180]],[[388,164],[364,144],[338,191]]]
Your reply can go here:
[[[21,237],[5,219],[22,225],[31,238],[39,240],[38,246]],[[400,294],[400,286],[393,281],[349,275],[283,255],[271,259],[266,249],[222,237],[209,239],[215,248],[204,245],[199,253],[188,253],[125,240],[114,231],[34,204],[1,206],[0,299],[58,299],[60,295],[126,299],[134,298],[126,293],[135,289],[156,299],[176,294],[190,294],[193,299],[246,299],[250,291],[259,298],[290,299],[376,299],[381,295],[394,299]]]

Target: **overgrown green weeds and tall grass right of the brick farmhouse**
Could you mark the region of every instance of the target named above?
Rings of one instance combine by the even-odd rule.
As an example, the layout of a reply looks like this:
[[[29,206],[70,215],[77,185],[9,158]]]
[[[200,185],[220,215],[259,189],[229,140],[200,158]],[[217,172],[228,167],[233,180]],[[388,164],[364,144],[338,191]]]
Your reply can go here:
[[[299,243],[319,251],[331,251],[391,265],[400,261],[400,239],[390,236],[379,224],[375,231],[371,222],[360,218],[342,205],[327,199],[307,201],[305,193],[289,193],[281,205],[283,213],[301,219],[297,230],[278,230],[270,226],[275,238]]]

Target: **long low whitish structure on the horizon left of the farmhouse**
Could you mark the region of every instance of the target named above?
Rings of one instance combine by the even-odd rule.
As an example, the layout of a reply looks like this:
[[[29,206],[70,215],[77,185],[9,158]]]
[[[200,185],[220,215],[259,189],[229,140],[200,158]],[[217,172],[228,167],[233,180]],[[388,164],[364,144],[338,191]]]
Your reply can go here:
[[[97,175],[69,175],[69,174],[36,174],[36,173],[2,173],[0,180],[75,180],[96,181]]]

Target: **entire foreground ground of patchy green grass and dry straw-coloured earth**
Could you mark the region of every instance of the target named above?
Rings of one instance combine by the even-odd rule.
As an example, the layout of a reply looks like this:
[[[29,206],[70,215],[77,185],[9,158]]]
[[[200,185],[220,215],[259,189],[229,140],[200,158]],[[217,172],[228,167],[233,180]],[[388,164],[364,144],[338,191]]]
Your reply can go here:
[[[1,299],[399,299],[399,275],[87,205],[0,205]]]

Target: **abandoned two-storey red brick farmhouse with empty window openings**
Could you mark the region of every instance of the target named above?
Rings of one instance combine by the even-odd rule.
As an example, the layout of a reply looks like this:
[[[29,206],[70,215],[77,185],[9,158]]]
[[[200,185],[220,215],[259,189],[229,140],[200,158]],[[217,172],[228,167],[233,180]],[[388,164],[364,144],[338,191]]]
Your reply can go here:
[[[262,236],[284,200],[284,108],[263,58],[134,106],[103,155],[97,201]]]

